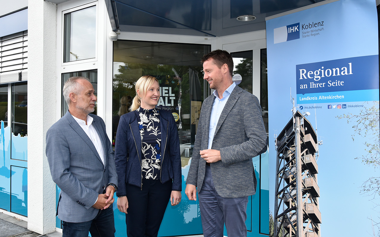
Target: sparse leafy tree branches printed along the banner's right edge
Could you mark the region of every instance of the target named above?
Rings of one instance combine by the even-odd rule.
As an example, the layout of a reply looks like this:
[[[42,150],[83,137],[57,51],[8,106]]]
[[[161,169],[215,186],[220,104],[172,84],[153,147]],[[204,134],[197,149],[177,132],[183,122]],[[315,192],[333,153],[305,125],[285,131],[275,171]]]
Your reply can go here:
[[[367,102],[368,103],[368,102]],[[358,115],[351,113],[337,116],[338,119],[347,118],[347,123],[353,124],[354,134],[351,136],[355,141],[355,135],[366,138],[364,144],[366,155],[356,157],[361,159],[366,165],[374,166],[378,170],[380,168],[380,146],[379,146],[379,102],[374,101],[374,105],[370,108],[361,109]],[[362,185],[362,193],[375,198],[380,195],[380,177],[370,177]]]

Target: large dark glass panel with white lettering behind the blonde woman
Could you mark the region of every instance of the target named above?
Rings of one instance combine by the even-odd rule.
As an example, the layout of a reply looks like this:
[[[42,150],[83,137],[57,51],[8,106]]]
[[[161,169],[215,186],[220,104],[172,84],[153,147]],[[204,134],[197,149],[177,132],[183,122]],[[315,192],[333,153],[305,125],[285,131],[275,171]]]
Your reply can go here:
[[[158,108],[171,111],[177,122],[182,164],[182,201],[175,207],[168,204],[158,236],[203,233],[199,203],[187,199],[185,181],[202,102],[209,95],[200,60],[210,50],[210,45],[201,44],[114,42],[112,142],[115,144],[120,116],[128,113],[136,95],[135,83],[143,75],[158,79]],[[125,215],[117,210],[114,213],[116,236],[125,236]]]

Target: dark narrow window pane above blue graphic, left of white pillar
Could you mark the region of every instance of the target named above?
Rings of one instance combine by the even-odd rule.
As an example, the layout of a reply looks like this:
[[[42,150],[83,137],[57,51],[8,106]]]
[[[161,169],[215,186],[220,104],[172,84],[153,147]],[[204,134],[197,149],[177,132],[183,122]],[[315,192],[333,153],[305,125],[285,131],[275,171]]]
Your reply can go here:
[[[28,85],[12,85],[12,132],[15,136],[28,134]]]

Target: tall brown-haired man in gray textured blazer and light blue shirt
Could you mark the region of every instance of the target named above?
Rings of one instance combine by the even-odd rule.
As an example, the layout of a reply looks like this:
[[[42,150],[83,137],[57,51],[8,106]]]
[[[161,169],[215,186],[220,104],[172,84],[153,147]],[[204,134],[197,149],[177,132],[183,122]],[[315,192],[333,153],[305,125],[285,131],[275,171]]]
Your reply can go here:
[[[196,200],[205,237],[247,236],[248,196],[257,180],[252,158],[266,151],[258,99],[232,81],[230,53],[215,50],[202,58],[204,80],[215,89],[202,105],[185,193]]]

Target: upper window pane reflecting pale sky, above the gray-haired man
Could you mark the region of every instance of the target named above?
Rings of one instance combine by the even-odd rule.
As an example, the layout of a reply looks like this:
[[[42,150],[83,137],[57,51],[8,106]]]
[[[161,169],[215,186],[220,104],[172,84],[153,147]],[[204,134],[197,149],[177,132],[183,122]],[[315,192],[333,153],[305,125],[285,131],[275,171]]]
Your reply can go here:
[[[95,58],[96,6],[64,16],[63,62]]]

